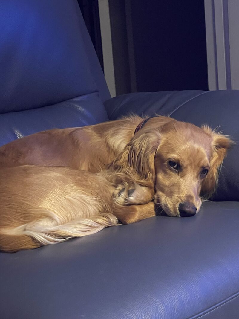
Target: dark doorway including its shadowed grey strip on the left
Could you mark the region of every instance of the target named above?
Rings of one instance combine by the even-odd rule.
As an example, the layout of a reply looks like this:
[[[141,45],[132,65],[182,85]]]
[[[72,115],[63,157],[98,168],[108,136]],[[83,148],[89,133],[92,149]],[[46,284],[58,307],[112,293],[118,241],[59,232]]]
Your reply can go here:
[[[109,4],[117,94],[208,90],[204,1]]]

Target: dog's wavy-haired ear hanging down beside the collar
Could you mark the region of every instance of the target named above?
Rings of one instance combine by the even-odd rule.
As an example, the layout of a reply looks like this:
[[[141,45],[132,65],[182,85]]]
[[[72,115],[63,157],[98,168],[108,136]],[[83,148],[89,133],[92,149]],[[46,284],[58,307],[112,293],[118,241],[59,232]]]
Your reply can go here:
[[[154,157],[160,138],[157,130],[137,132],[113,161],[112,167],[127,172],[139,184],[152,186],[155,182]]]

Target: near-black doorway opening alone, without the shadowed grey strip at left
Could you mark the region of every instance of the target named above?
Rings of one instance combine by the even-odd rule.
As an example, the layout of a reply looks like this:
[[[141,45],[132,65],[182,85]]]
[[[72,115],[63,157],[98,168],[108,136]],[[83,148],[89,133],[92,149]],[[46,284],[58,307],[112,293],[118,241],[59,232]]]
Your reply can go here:
[[[202,0],[130,0],[137,91],[208,90]]]

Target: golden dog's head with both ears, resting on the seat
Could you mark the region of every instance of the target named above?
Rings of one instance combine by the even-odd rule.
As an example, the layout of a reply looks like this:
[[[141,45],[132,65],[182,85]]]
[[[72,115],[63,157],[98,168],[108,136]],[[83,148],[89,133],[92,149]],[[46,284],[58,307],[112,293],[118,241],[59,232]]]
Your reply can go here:
[[[214,192],[232,143],[208,126],[170,121],[137,132],[113,165],[141,185],[154,185],[155,201],[169,216],[192,216]]]

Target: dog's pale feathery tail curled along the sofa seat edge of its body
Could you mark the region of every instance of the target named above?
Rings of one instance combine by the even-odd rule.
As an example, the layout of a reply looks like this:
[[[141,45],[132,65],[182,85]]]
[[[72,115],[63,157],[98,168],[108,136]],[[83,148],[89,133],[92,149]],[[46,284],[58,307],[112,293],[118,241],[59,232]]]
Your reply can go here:
[[[111,213],[79,218],[65,224],[59,224],[57,217],[46,217],[18,227],[0,229],[0,251],[16,252],[56,244],[72,237],[95,234],[117,224],[118,219]]]

